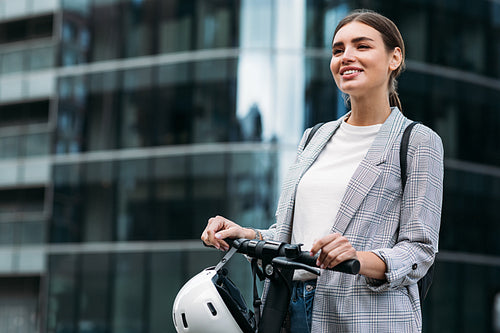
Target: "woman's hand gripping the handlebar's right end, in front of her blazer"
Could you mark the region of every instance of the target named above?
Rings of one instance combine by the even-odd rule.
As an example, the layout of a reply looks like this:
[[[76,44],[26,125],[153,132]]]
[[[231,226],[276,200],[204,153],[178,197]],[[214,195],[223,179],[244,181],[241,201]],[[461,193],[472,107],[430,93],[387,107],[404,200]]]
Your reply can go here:
[[[356,249],[339,233],[326,235],[314,242],[311,255],[316,255],[320,250],[316,264],[321,268],[332,268],[343,261],[358,259]]]

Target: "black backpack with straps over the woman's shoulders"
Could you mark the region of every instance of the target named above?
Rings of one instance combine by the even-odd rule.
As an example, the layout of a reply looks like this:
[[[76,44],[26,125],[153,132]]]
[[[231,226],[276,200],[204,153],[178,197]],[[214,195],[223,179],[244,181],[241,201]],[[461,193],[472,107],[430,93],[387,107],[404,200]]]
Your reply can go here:
[[[318,129],[323,124],[324,123],[318,123],[318,124],[314,125],[314,127],[309,132],[309,135],[307,136],[306,142],[304,144],[304,149],[309,144],[309,142],[311,141],[314,134],[318,131]],[[401,165],[401,183],[402,183],[402,187],[403,187],[403,192],[404,192],[404,189],[406,186],[406,179],[407,179],[406,158],[408,155],[408,144],[410,142],[411,130],[413,129],[413,126],[415,126],[416,124],[419,124],[419,122],[414,121],[405,128],[405,131],[403,132],[403,137],[401,138],[401,145],[399,148],[399,162]],[[431,267],[429,267],[429,270],[427,271],[427,273],[425,273],[425,275],[417,282],[418,294],[420,296],[421,303],[426,298],[427,293],[429,292],[429,288],[431,287],[433,276],[434,276],[434,263],[431,265]]]

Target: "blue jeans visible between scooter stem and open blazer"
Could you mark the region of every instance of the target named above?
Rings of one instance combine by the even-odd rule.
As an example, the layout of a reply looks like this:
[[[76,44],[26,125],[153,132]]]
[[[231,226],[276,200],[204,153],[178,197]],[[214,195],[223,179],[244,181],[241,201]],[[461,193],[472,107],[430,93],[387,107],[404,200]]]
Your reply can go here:
[[[290,333],[309,333],[312,323],[312,305],[316,280],[293,281],[292,297],[288,312],[290,316]]]

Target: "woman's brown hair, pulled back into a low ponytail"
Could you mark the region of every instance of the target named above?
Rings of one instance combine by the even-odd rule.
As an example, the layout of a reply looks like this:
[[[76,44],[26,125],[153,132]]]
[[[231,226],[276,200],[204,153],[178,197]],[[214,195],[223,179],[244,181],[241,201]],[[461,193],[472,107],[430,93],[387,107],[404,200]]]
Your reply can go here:
[[[397,92],[398,82],[396,81],[396,78],[405,68],[405,44],[398,27],[396,27],[394,22],[379,13],[367,9],[359,9],[353,11],[339,22],[333,34],[334,38],[343,26],[351,22],[361,22],[377,30],[380,35],[382,35],[382,40],[384,41],[385,47],[388,51],[393,51],[396,47],[401,49],[401,65],[391,72],[388,89],[390,105],[397,106],[400,110],[402,110],[401,101],[399,100]]]

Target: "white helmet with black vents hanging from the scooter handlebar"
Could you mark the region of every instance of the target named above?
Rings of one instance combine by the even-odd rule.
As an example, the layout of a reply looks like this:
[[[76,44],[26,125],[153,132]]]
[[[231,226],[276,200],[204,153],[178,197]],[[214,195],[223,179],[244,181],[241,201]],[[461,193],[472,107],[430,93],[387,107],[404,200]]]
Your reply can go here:
[[[179,291],[172,316],[177,332],[255,332],[256,324],[238,288],[225,274],[207,268]]]

